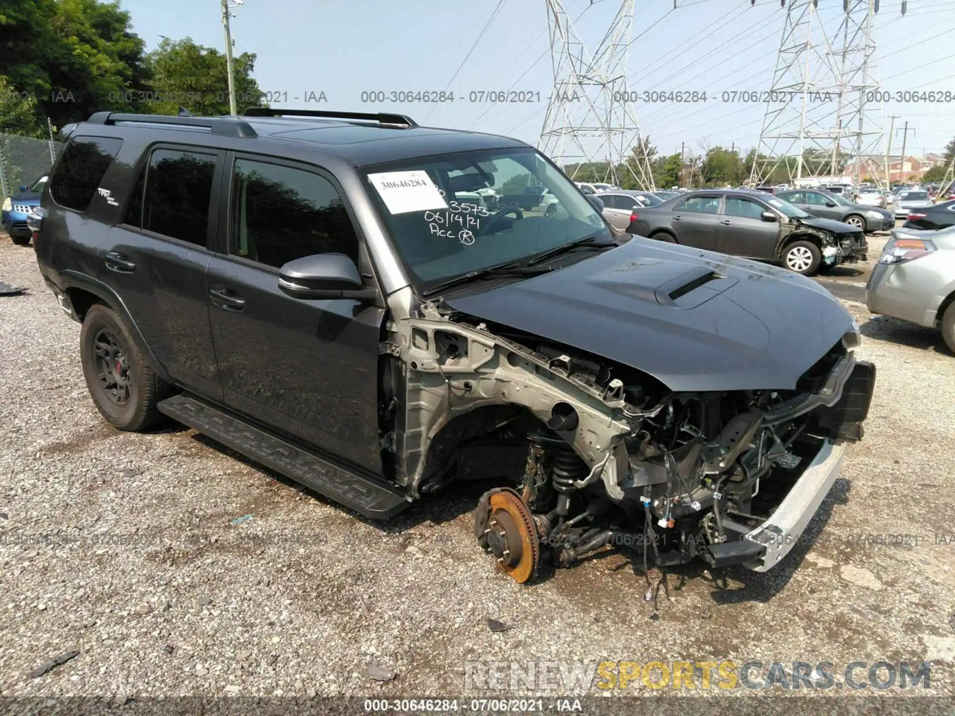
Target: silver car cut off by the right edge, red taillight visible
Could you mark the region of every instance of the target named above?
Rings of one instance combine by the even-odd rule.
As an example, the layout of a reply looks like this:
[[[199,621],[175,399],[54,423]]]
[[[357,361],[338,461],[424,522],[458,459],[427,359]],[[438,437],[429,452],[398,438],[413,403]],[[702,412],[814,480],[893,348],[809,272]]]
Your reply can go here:
[[[955,226],[893,229],[865,284],[865,303],[873,313],[941,328],[955,352]]]

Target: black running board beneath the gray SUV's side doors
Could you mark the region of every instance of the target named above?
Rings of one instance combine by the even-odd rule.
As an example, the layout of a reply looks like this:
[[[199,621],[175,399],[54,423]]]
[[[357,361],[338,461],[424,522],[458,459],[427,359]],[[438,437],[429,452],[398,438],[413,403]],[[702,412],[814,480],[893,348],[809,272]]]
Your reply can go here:
[[[405,495],[382,482],[343,470],[196,398],[175,395],[161,401],[157,408],[183,425],[371,519],[387,519],[411,504]]]

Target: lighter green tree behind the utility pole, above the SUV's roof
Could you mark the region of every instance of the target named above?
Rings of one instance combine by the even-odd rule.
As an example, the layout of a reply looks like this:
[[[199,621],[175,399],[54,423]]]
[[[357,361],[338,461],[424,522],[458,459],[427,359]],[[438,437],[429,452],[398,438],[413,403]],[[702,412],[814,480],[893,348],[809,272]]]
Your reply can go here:
[[[149,53],[146,65],[152,74],[154,100],[149,111],[158,115],[175,115],[185,107],[195,115],[229,114],[229,83],[225,55],[202,47],[186,37],[164,39]],[[263,92],[252,78],[255,54],[233,57],[236,109],[243,114],[248,107],[261,107]]]

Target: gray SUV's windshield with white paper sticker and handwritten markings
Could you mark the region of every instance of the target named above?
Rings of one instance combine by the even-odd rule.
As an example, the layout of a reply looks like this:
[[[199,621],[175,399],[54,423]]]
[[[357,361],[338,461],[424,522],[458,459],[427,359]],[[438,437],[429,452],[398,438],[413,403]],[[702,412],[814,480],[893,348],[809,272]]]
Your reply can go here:
[[[365,179],[422,291],[586,237],[612,238],[593,204],[530,147],[392,162]]]

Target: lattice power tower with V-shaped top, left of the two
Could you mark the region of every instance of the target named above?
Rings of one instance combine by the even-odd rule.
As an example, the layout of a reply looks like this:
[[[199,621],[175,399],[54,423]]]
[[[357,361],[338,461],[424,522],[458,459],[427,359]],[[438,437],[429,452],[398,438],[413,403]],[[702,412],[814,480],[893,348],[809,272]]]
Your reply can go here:
[[[546,0],[550,27],[554,91],[541,127],[539,148],[561,166],[609,158],[605,181],[620,184],[632,177],[653,189],[637,119],[626,102],[626,59],[634,0],[622,0],[593,54],[587,52],[563,0]],[[629,160],[628,160],[629,159]]]

